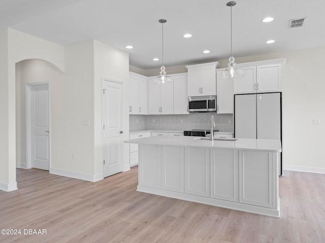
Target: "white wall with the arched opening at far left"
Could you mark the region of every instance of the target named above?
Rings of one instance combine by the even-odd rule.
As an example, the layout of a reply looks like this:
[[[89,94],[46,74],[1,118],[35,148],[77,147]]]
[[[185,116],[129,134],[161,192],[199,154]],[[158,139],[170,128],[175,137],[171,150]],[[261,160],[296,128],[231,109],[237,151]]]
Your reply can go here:
[[[64,48],[13,30],[2,29],[1,49],[1,93],[0,113],[2,115],[0,138],[0,189],[15,190],[16,182],[16,99],[15,64],[21,60],[37,58],[47,60],[64,70]]]

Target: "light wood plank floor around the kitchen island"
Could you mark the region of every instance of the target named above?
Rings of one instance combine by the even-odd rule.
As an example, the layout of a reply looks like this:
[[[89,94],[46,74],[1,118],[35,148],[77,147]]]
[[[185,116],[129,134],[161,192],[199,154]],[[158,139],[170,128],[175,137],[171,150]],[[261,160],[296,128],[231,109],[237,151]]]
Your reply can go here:
[[[281,218],[137,192],[138,168],[100,182],[17,169],[0,191],[0,242],[325,242],[325,175],[285,171]],[[46,229],[47,235],[23,235]]]

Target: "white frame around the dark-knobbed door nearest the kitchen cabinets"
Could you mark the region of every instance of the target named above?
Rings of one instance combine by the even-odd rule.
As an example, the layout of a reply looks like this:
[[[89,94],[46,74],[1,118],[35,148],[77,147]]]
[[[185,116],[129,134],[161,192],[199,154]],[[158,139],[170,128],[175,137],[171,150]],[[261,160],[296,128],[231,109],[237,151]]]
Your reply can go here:
[[[102,175],[103,175],[103,179],[105,179],[104,177],[104,105],[103,105],[103,102],[104,102],[104,83],[105,82],[113,82],[113,83],[117,83],[117,84],[120,84],[122,85],[122,100],[123,100],[123,108],[125,106],[124,104],[124,91],[125,91],[125,84],[124,82],[121,82],[119,80],[115,80],[115,79],[112,79],[112,78],[106,78],[106,77],[102,77],[102,90],[101,90],[101,93],[102,93]],[[123,131],[123,137],[124,137],[124,109],[122,110],[122,131]],[[124,172],[124,146],[122,145],[122,172]]]

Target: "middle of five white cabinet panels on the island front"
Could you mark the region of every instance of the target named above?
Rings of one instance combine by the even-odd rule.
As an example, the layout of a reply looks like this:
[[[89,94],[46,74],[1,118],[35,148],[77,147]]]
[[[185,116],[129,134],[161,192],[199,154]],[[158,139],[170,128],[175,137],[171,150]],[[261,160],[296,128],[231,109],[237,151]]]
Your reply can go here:
[[[185,148],[185,193],[210,196],[210,154],[207,148]]]

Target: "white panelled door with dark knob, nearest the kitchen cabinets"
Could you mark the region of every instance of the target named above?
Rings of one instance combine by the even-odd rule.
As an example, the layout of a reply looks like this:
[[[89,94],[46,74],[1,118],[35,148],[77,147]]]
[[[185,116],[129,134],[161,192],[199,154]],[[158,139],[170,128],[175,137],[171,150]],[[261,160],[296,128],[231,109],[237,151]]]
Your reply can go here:
[[[123,85],[103,81],[103,176],[123,170]]]

